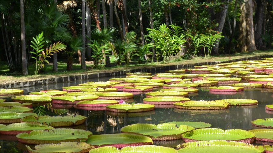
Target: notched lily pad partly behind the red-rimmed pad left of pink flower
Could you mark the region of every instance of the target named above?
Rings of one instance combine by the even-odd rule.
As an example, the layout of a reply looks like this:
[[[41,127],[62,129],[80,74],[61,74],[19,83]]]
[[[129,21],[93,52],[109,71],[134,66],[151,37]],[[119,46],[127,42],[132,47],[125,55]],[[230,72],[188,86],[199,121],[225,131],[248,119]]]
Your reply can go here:
[[[83,100],[95,100],[98,99],[98,95],[81,95],[81,96],[53,96],[52,103],[59,103],[59,104],[76,104],[79,101]]]

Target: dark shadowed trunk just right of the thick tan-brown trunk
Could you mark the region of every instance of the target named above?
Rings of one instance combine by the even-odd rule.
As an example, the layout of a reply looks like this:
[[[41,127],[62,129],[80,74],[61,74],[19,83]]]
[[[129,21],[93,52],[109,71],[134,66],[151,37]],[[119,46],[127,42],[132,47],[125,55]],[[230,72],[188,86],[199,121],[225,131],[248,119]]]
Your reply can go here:
[[[262,39],[262,28],[263,28],[265,6],[266,6],[266,1],[260,0],[260,2],[257,3],[257,9],[255,13],[254,36],[255,36],[256,48],[259,50],[265,49],[265,46],[263,45],[263,39]]]

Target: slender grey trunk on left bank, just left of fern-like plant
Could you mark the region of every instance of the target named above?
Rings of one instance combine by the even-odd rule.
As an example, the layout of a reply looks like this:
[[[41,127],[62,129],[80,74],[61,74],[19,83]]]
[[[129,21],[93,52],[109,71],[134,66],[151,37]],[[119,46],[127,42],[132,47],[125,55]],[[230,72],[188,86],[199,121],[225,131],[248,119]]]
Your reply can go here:
[[[22,73],[28,75],[28,62],[25,48],[25,17],[24,17],[24,0],[20,0],[21,13],[21,49],[22,49]]]

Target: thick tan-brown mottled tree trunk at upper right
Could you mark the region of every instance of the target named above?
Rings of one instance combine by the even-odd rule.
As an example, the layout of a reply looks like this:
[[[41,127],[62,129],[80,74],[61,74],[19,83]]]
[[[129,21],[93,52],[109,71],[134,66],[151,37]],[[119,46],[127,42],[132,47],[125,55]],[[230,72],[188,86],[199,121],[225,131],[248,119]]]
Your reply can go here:
[[[239,48],[241,52],[256,50],[252,8],[252,0],[244,0],[240,6]]]

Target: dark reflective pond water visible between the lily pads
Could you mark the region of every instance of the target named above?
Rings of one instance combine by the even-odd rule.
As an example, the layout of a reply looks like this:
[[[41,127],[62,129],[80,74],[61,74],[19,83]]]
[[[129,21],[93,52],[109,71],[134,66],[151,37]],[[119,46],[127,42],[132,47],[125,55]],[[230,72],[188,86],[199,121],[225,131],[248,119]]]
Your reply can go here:
[[[125,77],[125,76],[121,76]],[[94,80],[75,81],[71,83],[61,83],[54,85],[35,86],[24,88],[25,94],[42,89],[60,89],[64,86],[73,86],[87,81],[107,81],[109,78],[99,78]],[[147,114],[141,113],[139,116],[130,117],[122,115],[109,114],[106,111],[88,111],[70,108],[65,110],[66,114],[79,114],[87,116],[86,123],[75,129],[87,129],[93,134],[110,134],[120,133],[120,129],[126,125],[135,123],[160,124],[171,121],[200,121],[210,123],[212,128],[221,129],[255,129],[251,126],[251,121],[258,118],[273,118],[272,114],[265,112],[265,105],[272,104],[272,90],[261,88],[259,90],[245,90],[238,93],[211,94],[208,88],[199,87],[198,95],[188,96],[191,100],[216,100],[216,99],[255,99],[259,104],[255,106],[231,106],[225,110],[178,110],[175,108],[155,108],[154,111]],[[156,89],[159,90],[159,89]],[[229,95],[230,94],[230,95]],[[134,95],[133,99],[126,102],[143,103],[145,94]],[[10,100],[9,98],[7,98]],[[54,115],[50,109],[45,106],[48,115]],[[56,115],[56,114],[55,114]],[[177,144],[183,143],[182,140],[175,141],[158,141],[155,145],[167,147],[175,147]],[[8,135],[0,135],[0,152],[26,152],[25,144],[16,141],[16,137]]]

